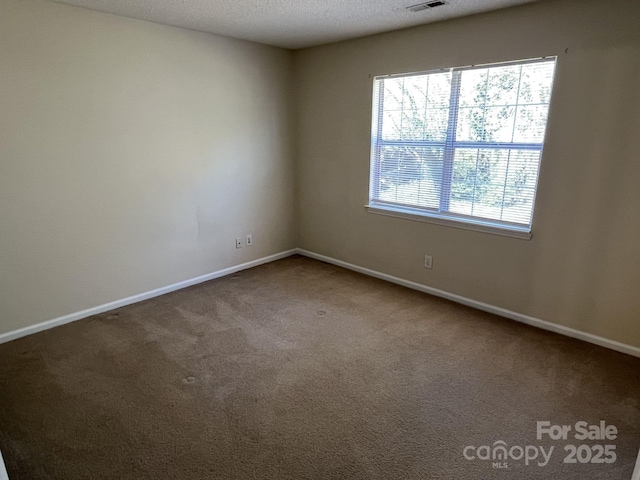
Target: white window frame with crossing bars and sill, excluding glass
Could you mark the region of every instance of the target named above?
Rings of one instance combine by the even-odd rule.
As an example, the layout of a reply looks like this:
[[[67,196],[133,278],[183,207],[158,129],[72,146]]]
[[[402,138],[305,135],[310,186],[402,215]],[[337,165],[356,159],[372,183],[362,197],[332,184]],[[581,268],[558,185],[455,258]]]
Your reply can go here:
[[[497,235],[504,235],[509,237],[521,238],[529,240],[531,239],[533,215],[535,210],[536,194],[538,190],[538,179],[540,175],[540,165],[542,164],[542,153],[544,148],[544,139],[540,143],[522,143],[522,142],[468,142],[457,141],[455,139],[456,127],[458,120],[458,105],[460,101],[460,83],[462,72],[471,69],[481,69],[490,67],[503,67],[507,65],[526,65],[532,63],[549,62],[554,61],[557,65],[557,57],[541,57],[529,60],[517,60],[510,62],[491,63],[483,65],[472,65],[467,67],[455,67],[450,69],[438,69],[424,72],[402,73],[392,75],[379,75],[373,78],[373,95],[372,95],[372,130],[371,130],[371,158],[370,158],[370,175],[369,175],[369,203],[365,205],[368,212],[386,215],[392,217],[405,218],[408,220],[416,220],[421,222],[434,223],[438,225],[446,225],[466,230],[475,230],[485,233],[492,233]],[[411,141],[411,140],[384,140],[382,138],[382,107],[381,92],[379,88],[376,88],[377,81],[394,78],[394,77],[409,77],[413,75],[429,75],[442,73],[443,71],[451,72],[451,95],[449,102],[449,120],[447,126],[446,139],[444,141]],[[553,92],[553,78],[551,82]],[[377,97],[377,98],[376,98]],[[549,100],[551,105],[551,99]],[[547,119],[548,124],[548,119]],[[443,182],[442,189],[440,191],[440,205],[439,208],[429,209],[426,207],[419,207],[414,205],[405,205],[397,203],[385,203],[383,201],[376,201],[375,198],[379,198],[379,183],[377,182],[377,176],[375,168],[377,166],[377,154],[376,150],[381,146],[434,146],[444,149],[444,164],[443,164],[443,177],[448,176],[451,178],[453,175],[453,159],[456,149],[459,148],[482,148],[482,149],[512,149],[512,150],[534,150],[540,154],[540,162],[538,164],[538,171],[536,173],[536,185],[533,195],[533,206],[531,212],[531,220],[529,225],[523,225],[519,223],[511,223],[502,220],[491,220],[482,217],[457,214],[450,212],[449,202],[451,193],[451,182]]]

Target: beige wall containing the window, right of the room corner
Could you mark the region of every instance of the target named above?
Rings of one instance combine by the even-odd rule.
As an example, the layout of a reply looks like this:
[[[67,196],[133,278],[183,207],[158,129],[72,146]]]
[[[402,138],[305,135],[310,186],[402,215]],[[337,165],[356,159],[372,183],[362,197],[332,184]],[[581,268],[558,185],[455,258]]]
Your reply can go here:
[[[636,0],[558,0],[296,52],[300,246],[640,346],[638,19]],[[372,75],[544,55],[532,240],[366,212]]]

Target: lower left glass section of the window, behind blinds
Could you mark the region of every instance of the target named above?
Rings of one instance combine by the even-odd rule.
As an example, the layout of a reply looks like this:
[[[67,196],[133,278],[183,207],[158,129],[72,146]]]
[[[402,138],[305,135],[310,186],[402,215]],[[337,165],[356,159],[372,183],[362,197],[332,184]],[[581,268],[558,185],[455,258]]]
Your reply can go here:
[[[379,150],[378,200],[438,208],[443,148],[388,145]]]

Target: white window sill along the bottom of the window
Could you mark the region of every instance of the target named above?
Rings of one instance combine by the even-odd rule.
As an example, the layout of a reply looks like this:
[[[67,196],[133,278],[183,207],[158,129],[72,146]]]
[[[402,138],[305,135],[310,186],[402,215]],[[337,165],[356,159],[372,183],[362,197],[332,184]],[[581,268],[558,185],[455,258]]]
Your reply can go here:
[[[414,220],[417,222],[433,223],[436,225],[444,225],[446,227],[461,228],[464,230],[490,233],[492,235],[502,235],[504,237],[519,238],[521,240],[531,240],[532,235],[531,231],[526,227],[507,227],[481,220],[458,218],[454,215],[431,215],[428,212],[424,212],[422,210],[392,207],[388,205],[365,205],[364,207],[369,213],[374,213],[376,215],[404,218],[406,220]]]

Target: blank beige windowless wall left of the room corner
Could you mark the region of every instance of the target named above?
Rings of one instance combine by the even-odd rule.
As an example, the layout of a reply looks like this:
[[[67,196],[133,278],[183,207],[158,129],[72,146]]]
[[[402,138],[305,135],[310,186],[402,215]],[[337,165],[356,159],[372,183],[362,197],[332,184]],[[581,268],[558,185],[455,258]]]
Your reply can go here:
[[[1,0],[0,333],[293,248],[291,81],[285,50]]]

